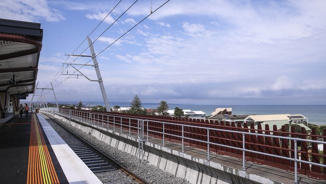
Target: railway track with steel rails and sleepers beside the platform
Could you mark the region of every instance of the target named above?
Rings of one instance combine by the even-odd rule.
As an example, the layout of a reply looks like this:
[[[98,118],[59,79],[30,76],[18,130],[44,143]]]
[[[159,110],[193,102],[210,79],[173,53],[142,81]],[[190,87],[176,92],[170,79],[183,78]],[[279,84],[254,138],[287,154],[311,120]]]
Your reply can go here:
[[[90,168],[94,174],[101,174],[100,180],[109,183],[130,183],[130,180],[137,183],[147,184],[146,180],[137,176],[123,165],[108,157],[105,153],[89,144],[81,137],[71,132],[69,129],[60,124],[56,119],[42,113],[48,117],[55,125],[59,136],[67,143],[67,145],[78,155],[78,157]],[[52,124],[51,122],[49,122]],[[52,124],[53,126],[53,124]],[[124,174],[121,174],[123,172]]]

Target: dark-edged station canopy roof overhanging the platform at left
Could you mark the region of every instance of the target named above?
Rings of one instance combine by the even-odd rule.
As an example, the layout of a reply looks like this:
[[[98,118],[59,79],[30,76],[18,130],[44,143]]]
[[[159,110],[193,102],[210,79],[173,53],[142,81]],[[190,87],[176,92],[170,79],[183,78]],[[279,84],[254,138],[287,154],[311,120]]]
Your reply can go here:
[[[39,23],[0,19],[0,93],[34,93],[42,38]]]

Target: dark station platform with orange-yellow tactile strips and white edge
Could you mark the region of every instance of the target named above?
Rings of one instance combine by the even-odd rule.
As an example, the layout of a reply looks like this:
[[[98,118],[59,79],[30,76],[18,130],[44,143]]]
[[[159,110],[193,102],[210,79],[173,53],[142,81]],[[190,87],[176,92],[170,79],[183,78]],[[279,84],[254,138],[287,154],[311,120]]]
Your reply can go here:
[[[0,124],[0,183],[101,183],[39,114]]]

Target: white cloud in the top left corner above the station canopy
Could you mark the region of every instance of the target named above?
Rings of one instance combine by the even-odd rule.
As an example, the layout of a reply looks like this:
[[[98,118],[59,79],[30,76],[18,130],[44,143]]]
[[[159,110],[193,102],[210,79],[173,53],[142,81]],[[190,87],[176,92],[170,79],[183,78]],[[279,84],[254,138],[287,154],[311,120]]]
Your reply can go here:
[[[2,0],[0,3],[0,17],[19,21],[58,22],[65,20],[64,15],[57,9],[48,6],[45,0]]]

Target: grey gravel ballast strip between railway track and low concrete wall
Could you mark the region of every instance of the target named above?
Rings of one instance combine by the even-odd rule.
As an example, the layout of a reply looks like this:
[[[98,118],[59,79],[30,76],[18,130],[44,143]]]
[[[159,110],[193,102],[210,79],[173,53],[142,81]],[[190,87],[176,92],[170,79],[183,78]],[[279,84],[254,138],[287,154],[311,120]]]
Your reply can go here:
[[[47,117],[45,118],[48,119]],[[112,158],[119,164],[125,166],[126,168],[134,172],[136,175],[142,177],[143,179],[147,180],[150,183],[162,183],[162,184],[163,183],[185,183],[185,184],[190,183],[187,180],[177,177],[169,172],[163,171],[155,167],[154,165],[150,165],[146,162],[141,162],[140,159],[138,159],[136,156],[133,156],[129,153],[113,148],[109,146],[107,143],[96,139],[94,136],[89,135],[83,132],[82,130],[73,127],[59,119],[57,119],[57,121],[59,121],[63,126],[68,128],[70,131],[74,132],[75,134],[83,138],[92,146],[106,153],[110,158]],[[107,180],[105,179],[105,177],[107,178],[107,175],[105,175],[105,173],[98,173],[96,174],[96,176],[99,179],[102,179],[101,181],[103,183],[111,183],[110,181],[106,182]]]

